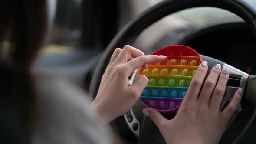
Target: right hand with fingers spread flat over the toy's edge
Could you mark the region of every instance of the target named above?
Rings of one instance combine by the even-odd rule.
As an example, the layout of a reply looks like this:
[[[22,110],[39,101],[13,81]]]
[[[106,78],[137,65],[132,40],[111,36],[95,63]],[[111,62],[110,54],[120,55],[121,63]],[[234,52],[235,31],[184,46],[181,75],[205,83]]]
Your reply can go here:
[[[174,119],[167,120],[151,108],[143,109],[143,113],[158,126],[167,144],[217,144],[220,141],[227,122],[240,103],[243,89],[239,88],[230,104],[220,112],[229,78],[228,69],[221,71],[219,64],[213,67],[200,92],[207,69],[205,61],[198,67]]]

